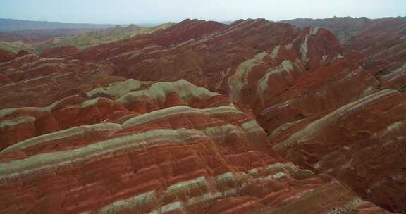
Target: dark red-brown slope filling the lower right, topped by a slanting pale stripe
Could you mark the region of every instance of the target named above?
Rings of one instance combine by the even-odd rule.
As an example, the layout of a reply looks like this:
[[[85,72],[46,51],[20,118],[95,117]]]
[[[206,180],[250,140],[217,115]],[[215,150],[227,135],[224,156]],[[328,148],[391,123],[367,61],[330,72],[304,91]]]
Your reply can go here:
[[[281,127],[271,141],[288,160],[338,177],[364,199],[406,210],[405,112],[406,94],[387,89]]]

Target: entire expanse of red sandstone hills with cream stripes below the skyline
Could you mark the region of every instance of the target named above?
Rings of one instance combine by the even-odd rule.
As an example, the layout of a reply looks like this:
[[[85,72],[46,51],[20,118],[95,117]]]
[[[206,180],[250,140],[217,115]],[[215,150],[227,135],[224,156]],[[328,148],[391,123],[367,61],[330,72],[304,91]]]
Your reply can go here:
[[[0,188],[22,192],[2,210],[404,212],[402,28],[385,26],[343,46],[321,27],[185,20],[1,63]]]

